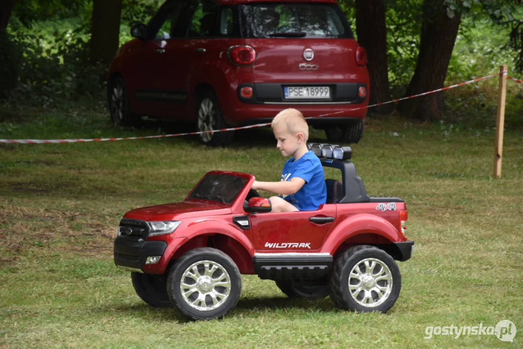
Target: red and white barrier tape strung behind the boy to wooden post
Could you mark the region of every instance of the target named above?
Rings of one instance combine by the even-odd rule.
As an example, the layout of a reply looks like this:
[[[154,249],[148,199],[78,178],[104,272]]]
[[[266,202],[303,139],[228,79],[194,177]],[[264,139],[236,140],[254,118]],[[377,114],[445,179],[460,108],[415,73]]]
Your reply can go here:
[[[494,77],[494,76],[498,76],[498,75],[501,75],[501,74],[507,75],[507,72],[503,71],[502,73],[498,73],[498,74],[492,74],[492,75],[488,75],[488,76],[478,77],[478,78],[475,78],[474,80],[469,80],[469,81],[465,81],[465,82],[462,82],[462,83],[459,83],[459,84],[456,84],[456,85],[451,85],[451,86],[447,86],[447,87],[443,87],[443,88],[438,88],[438,89],[435,89],[434,91],[424,92],[424,93],[420,93],[420,94],[417,94],[417,95],[414,95],[414,96],[409,96],[409,97],[403,97],[403,98],[390,100],[389,102],[377,103],[377,104],[372,104],[372,105],[369,105],[369,106],[366,106],[366,107],[358,107],[358,108],[352,108],[352,109],[346,109],[346,110],[331,112],[331,113],[328,113],[328,114],[311,116],[311,117],[307,117],[305,119],[321,118],[321,117],[325,117],[325,116],[332,116],[332,115],[336,115],[336,114],[341,114],[342,112],[347,112],[347,111],[352,111],[352,110],[359,110],[359,109],[364,109],[364,108],[372,108],[372,107],[377,107],[377,106],[385,105],[385,104],[389,104],[389,103],[400,102],[401,100],[415,98],[415,97],[419,97],[419,96],[425,96],[425,95],[428,95],[428,94],[431,94],[431,93],[445,91],[446,89],[450,89],[450,88],[454,88],[454,87],[458,87],[458,86],[463,86],[463,85],[467,85],[467,84],[471,84],[471,83],[475,83],[475,82],[478,82],[478,81],[481,81],[481,80],[486,80],[488,78],[491,78],[491,77]],[[508,77],[510,78],[510,76],[508,76]],[[516,80],[514,78],[512,78],[512,79]],[[516,80],[516,82],[521,82],[521,81]],[[249,129],[249,128],[269,126],[270,124],[271,124],[270,122],[266,122],[266,123],[257,123],[256,125],[242,126],[242,127],[232,127],[232,128],[221,129],[221,130],[186,132],[186,133],[172,133],[172,134],[160,134],[160,135],[157,135],[157,136],[143,136],[143,137],[93,138],[93,139],[0,139],[0,143],[39,144],[39,143],[82,143],[82,142],[125,141],[125,140],[131,140],[131,139],[166,138],[166,137],[178,137],[178,136],[192,136],[194,134],[202,134],[202,133],[236,131],[236,130],[244,130],[244,129]]]

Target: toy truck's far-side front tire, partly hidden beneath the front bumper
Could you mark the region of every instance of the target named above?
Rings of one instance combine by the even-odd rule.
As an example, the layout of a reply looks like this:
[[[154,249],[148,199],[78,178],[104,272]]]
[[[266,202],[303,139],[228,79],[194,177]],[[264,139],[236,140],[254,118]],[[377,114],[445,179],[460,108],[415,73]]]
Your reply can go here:
[[[170,308],[167,276],[131,273],[132,286],[144,302],[153,307]]]

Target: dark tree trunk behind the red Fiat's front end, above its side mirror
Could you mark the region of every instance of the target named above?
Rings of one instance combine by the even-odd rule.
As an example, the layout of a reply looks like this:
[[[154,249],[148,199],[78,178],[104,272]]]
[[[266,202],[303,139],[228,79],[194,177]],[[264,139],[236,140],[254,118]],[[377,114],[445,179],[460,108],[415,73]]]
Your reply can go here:
[[[119,45],[122,0],[93,0],[89,58],[92,64],[109,64]]]

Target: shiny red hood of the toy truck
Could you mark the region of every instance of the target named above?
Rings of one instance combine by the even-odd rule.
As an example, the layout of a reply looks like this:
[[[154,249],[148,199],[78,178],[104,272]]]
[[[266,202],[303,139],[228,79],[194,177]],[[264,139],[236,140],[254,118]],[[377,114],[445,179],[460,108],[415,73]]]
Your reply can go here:
[[[157,206],[141,207],[129,211],[124,218],[144,221],[180,220],[198,216],[218,216],[231,213],[231,207],[221,202],[210,200],[194,200],[174,202]]]

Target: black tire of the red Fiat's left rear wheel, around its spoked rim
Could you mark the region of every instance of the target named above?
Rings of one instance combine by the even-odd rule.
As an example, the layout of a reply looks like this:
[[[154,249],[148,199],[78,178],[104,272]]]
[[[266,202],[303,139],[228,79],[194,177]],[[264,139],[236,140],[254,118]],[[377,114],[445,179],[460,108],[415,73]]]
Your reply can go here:
[[[211,119],[208,116],[202,116],[201,113],[204,113],[204,109],[202,108],[203,103],[208,103],[208,100],[210,100],[212,104],[212,114],[214,117],[214,121],[212,122]],[[222,111],[220,109],[220,104],[218,102],[218,98],[212,91],[203,91],[198,93],[196,97],[196,103],[195,103],[195,112],[196,112],[196,128],[197,131],[204,131],[204,130],[221,130],[224,128],[229,128],[230,126],[227,125],[225,120],[223,119]],[[205,119],[202,123],[204,125],[207,125],[207,127],[202,127],[200,124],[201,119]],[[210,135],[210,137],[209,137]],[[234,137],[234,131],[225,131],[225,132],[214,132],[214,133],[200,133],[198,135],[198,138],[200,139],[200,142],[206,145],[212,145],[214,147],[218,147],[220,145],[228,145],[232,142]]]

